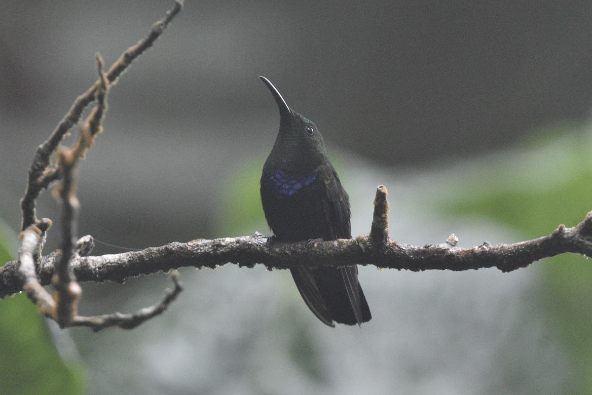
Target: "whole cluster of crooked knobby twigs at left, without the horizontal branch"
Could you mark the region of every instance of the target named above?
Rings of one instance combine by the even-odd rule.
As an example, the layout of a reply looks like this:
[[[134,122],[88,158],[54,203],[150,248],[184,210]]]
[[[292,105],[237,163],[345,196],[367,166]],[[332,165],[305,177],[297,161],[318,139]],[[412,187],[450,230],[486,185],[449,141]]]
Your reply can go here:
[[[96,136],[101,133],[101,121],[107,110],[107,92],[112,81],[127,68],[133,59],[144,52],[169,24],[170,20],[179,12],[182,1],[178,0],[175,7],[166,12],[165,17],[152,25],[149,35],[130,47],[120,59],[111,66],[108,73],[103,72],[104,62],[99,54],[96,55],[98,81],[79,96],[66,117],[60,122],[52,136],[38,147],[33,164],[29,169],[29,180],[25,195],[21,200],[22,227],[21,248],[18,253],[17,271],[18,281],[22,290],[38,306],[41,313],[56,320],[60,327],[89,326],[94,330],[108,326],[120,326],[126,329],[136,327],[146,320],[162,313],[181,292],[182,287],[178,274],[173,275],[175,290],[168,291],[165,299],[156,306],[147,307],[135,314],[107,314],[97,317],[83,317],[77,314],[78,299],[82,294],[81,287],[76,282],[71,262],[81,256],[88,255],[94,247],[92,237],[86,236],[74,242],[76,234],[77,214],[79,210],[78,198],[75,193],[76,166],[84,158],[86,150],[94,144]],[[81,134],[75,146],[71,149],[59,147],[66,131],[78,123],[83,108],[96,99],[96,105],[86,119]],[[52,153],[57,149],[57,167],[47,168]],[[41,251],[45,239],[46,229],[51,221],[36,220],[35,200],[41,190],[47,188],[52,181],[62,179],[62,183],[54,189],[56,197],[60,198],[63,206],[62,218],[62,249],[53,253],[56,259],[52,283],[55,289],[53,298],[38,281],[36,263],[40,263]],[[38,267],[37,267],[38,268]]]

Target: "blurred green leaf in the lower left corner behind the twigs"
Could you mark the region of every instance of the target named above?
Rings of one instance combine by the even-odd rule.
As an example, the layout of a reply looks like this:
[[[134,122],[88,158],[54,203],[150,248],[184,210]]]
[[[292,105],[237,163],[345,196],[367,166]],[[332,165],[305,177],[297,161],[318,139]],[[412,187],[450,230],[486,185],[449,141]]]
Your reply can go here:
[[[2,227],[0,222],[0,227]],[[0,264],[14,259],[8,232],[0,232]],[[67,366],[53,345],[43,317],[25,294],[0,300],[0,393],[80,394],[80,368]]]

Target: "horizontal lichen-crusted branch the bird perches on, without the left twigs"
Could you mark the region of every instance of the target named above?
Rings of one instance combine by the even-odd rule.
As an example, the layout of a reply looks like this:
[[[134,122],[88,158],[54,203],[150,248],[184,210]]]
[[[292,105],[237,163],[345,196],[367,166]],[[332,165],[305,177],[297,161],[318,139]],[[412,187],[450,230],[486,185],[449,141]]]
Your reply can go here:
[[[386,192],[384,187],[379,191]],[[382,193],[382,192],[381,192]],[[386,226],[387,204],[375,210],[374,220]],[[385,229],[375,229],[386,232]],[[379,233],[381,234],[381,233]],[[187,243],[169,243],[141,251],[101,256],[80,256],[72,260],[72,270],[79,281],[124,281],[140,274],[169,271],[184,266],[215,268],[227,263],[252,267],[263,264],[268,268],[285,269],[298,265],[345,266],[374,265],[378,268],[427,269],[462,271],[498,268],[508,272],[522,268],[550,256],[566,252],[592,256],[592,212],[577,226],[559,226],[553,233],[538,239],[513,244],[491,246],[483,243],[474,247],[456,247],[456,236],[438,245],[423,247],[387,240],[376,243],[364,235],[349,240],[317,242],[307,247],[306,242],[267,243],[260,233],[253,236],[226,237],[214,240],[198,239]],[[41,284],[49,284],[55,271],[59,253],[41,259],[38,277]],[[0,268],[0,297],[21,290],[16,262]]]

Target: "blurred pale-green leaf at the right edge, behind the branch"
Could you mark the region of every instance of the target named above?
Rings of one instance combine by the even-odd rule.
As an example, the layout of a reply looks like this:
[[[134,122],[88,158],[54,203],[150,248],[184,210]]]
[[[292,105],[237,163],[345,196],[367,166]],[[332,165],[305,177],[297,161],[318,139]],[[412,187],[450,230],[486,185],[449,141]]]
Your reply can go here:
[[[592,144],[587,133],[547,130],[547,139],[523,152],[502,154],[456,180],[443,207],[455,216],[485,216],[533,238],[559,224],[575,226],[592,210]],[[537,134],[540,136],[540,134]],[[559,137],[558,137],[559,136]],[[517,241],[517,240],[516,240]],[[571,355],[571,394],[592,388],[592,268],[583,256],[564,254],[536,264],[539,303]]]

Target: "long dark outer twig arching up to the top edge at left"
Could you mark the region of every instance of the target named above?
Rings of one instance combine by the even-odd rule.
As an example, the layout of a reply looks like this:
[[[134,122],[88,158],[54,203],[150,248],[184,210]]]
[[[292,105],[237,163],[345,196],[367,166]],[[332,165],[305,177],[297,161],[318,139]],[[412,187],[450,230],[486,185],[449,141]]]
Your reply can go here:
[[[165,17],[152,25],[147,37],[145,37],[143,40],[140,40],[136,45],[129,47],[126,52],[121,55],[117,62],[115,62],[107,72],[106,77],[108,82],[114,82],[121,75],[121,73],[127,69],[130,63],[136,59],[136,57],[152,46],[152,44],[168,26],[170,21],[172,21],[175,15],[181,11],[182,5],[182,0],[176,0],[173,8],[166,12]],[[95,84],[88,89],[88,91],[76,98],[76,101],[66,116],[57,125],[49,139],[37,147],[36,155],[33,158],[33,163],[31,164],[31,168],[28,171],[28,182],[27,187],[25,188],[25,195],[21,199],[22,230],[31,224],[36,223],[35,201],[37,200],[37,197],[41,191],[44,188],[47,188],[49,182],[53,181],[53,179],[58,176],[57,174],[54,174],[51,176],[51,178],[48,178],[49,176],[47,175],[47,172],[51,171],[51,169],[47,169],[47,166],[49,166],[50,156],[56,150],[58,144],[62,141],[67,131],[69,131],[78,123],[82,114],[82,110],[84,110],[87,105],[95,100],[96,90],[99,89],[101,84],[103,84],[103,82],[101,81],[101,78],[99,78],[99,80],[96,81]]]

